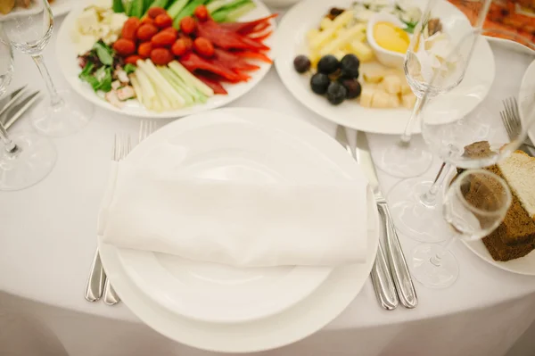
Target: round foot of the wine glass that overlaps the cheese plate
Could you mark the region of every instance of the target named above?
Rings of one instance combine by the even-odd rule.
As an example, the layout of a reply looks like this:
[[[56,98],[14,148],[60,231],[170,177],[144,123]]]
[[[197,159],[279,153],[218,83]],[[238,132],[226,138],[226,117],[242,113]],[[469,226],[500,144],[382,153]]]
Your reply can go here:
[[[420,145],[389,145],[377,162],[377,166],[397,178],[422,175],[432,163],[432,153]]]

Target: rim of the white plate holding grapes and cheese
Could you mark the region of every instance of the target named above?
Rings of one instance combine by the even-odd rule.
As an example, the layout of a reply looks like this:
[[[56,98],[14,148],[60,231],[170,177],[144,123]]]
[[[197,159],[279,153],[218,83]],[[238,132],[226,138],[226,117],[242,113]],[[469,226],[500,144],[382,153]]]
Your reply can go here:
[[[350,3],[349,0],[346,0],[346,2]],[[356,130],[360,130],[360,131],[364,131],[366,133],[372,133],[372,134],[383,134],[383,135],[400,135],[400,134],[402,134],[405,125],[400,126],[399,129],[384,128],[387,125],[383,125],[383,128],[381,128],[381,129],[379,129],[379,128],[369,128],[369,127],[366,127],[366,125],[364,127],[362,125],[355,125],[353,123],[354,121],[348,122],[347,120],[339,120],[338,116],[340,116],[340,115],[324,114],[325,112],[324,112],[323,109],[317,108],[317,107],[315,107],[315,105],[309,105],[308,103],[306,103],[308,100],[305,100],[304,98],[302,98],[302,100],[301,100],[300,94],[297,92],[297,90],[296,89],[292,89],[292,87],[293,87],[292,86],[292,79],[287,78],[287,76],[285,74],[288,73],[288,70],[287,70],[286,66],[284,66],[285,63],[280,61],[280,58],[283,57],[282,53],[284,51],[284,49],[283,49],[284,46],[282,45],[284,43],[284,40],[282,39],[282,36],[283,36],[282,33],[283,33],[283,29],[288,26],[288,25],[286,25],[286,22],[290,22],[288,19],[290,19],[290,16],[293,13],[299,13],[300,9],[306,8],[306,7],[308,7],[309,5],[312,5],[312,4],[320,4],[320,3],[318,3],[316,0],[305,0],[305,1],[301,1],[298,4],[295,4],[294,6],[292,6],[292,8],[288,12],[284,13],[284,17],[279,23],[279,30],[276,33],[277,46],[276,46],[276,54],[275,54],[275,56],[277,58],[277,61],[275,62],[275,67],[276,67],[276,71],[278,73],[279,78],[281,79],[281,81],[284,84],[284,87],[286,87],[286,89],[292,94],[293,98],[296,101],[298,101],[302,106],[304,106],[305,108],[307,108],[311,112],[315,112],[317,115],[321,116],[325,120],[329,120],[329,121],[331,121],[331,122],[333,122],[333,123],[335,123],[337,125],[342,125],[342,126],[345,126],[345,127],[348,127],[348,128],[353,128],[353,129],[356,129]],[[453,12],[457,12],[458,14],[462,14],[463,16],[465,16],[463,14],[463,12],[461,12],[459,9],[457,9],[457,7],[454,4],[450,4],[449,2],[445,2],[444,4],[446,4],[446,6],[449,6],[452,9]],[[317,5],[315,7],[317,7]],[[486,37],[484,39],[486,39]],[[482,46],[485,46],[485,50],[489,50],[490,53],[492,53],[492,50],[490,48],[490,44],[489,44],[489,42],[487,40],[485,40],[483,42]],[[486,94],[488,94],[488,90],[487,90]],[[484,99],[484,97],[483,97],[483,99]],[[481,99],[481,100],[483,100],[483,99]],[[406,115],[407,115],[407,112],[410,113],[410,111],[403,110],[403,109],[369,109],[369,108],[365,108],[365,109],[366,110],[364,110],[363,112],[357,112],[357,114],[360,114],[361,116],[362,115],[366,115],[366,113],[369,113],[372,110],[374,110],[374,111],[383,111],[383,112],[385,112],[384,115],[390,115],[390,116],[393,116],[393,117],[399,115],[400,112],[403,112]],[[374,119],[366,119],[366,120],[374,120]],[[399,120],[401,120],[401,119],[399,119]],[[408,120],[408,115],[407,115],[407,120]],[[416,125],[416,127],[413,128],[413,134],[415,134],[415,135],[421,134],[421,128],[420,128],[419,125]]]

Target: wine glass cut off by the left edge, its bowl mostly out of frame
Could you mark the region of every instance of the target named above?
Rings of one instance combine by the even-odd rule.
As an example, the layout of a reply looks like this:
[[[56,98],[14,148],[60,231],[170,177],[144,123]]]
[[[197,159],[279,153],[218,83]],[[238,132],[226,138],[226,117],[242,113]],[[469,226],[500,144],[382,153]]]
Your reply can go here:
[[[12,79],[12,46],[0,23],[0,96]],[[53,169],[56,151],[45,137],[21,132],[9,135],[0,123],[0,190],[20,190],[33,186]]]

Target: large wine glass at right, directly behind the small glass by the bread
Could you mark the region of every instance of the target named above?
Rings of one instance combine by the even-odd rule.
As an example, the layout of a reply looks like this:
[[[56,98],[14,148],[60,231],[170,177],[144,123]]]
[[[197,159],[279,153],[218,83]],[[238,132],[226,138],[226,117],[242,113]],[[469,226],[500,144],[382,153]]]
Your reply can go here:
[[[535,45],[529,39],[505,31],[474,29],[458,41],[449,54],[450,58],[457,58],[459,53],[470,53],[472,49],[483,51],[482,45],[488,36],[515,41],[507,47],[490,47],[491,55],[486,62],[494,63],[492,71],[477,70],[481,63],[468,60],[469,74],[466,77],[470,80],[465,80],[449,95],[434,96],[431,89],[434,85],[431,85],[429,96],[433,97],[432,100],[424,96],[422,134],[430,151],[446,163],[436,178],[402,180],[391,188],[386,197],[396,228],[417,241],[437,243],[450,235],[442,219],[440,186],[448,177],[451,166],[481,168],[496,163],[522,143],[529,123],[535,120],[533,112],[527,112],[530,108],[528,102],[535,101],[535,95],[532,95],[535,88],[522,87],[524,71],[535,60]],[[511,48],[516,48],[516,51]],[[437,75],[432,82],[441,80]],[[470,84],[485,81],[488,83],[486,86]],[[508,137],[501,120],[504,105],[511,97],[523,104],[520,109],[523,113],[522,129],[514,137]],[[465,146],[478,142],[480,144],[469,147],[468,151],[479,154],[465,154]],[[485,150],[490,154],[482,155]]]

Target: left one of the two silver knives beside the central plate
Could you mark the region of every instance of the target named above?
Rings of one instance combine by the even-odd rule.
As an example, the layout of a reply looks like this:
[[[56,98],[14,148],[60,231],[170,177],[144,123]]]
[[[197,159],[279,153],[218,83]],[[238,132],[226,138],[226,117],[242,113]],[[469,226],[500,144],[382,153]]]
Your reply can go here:
[[[346,136],[346,130],[342,126],[338,126],[336,129],[336,140],[338,140],[338,142],[345,147],[348,153],[350,153],[351,157],[353,157],[353,153],[351,153],[352,150]],[[394,281],[392,280],[391,273],[388,269],[381,243],[379,244],[377,255],[374,261],[374,267],[370,272],[370,276],[372,277],[375,295],[377,296],[377,299],[381,303],[383,309],[396,309],[399,304],[398,295],[396,294],[396,287],[394,286]]]

